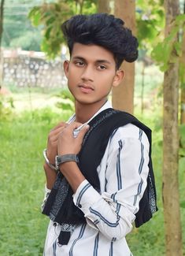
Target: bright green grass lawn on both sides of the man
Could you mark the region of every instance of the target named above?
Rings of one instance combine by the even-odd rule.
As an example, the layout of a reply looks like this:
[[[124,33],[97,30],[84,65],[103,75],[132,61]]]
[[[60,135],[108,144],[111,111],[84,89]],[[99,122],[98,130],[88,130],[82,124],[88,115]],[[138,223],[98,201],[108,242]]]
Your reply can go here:
[[[152,114],[151,114],[152,113]],[[161,118],[159,111],[142,117],[154,130],[153,159],[157,181],[159,211],[141,228],[128,236],[135,256],[165,255],[164,224],[161,202]],[[136,111],[139,117],[139,113]],[[47,217],[40,211],[43,200],[43,148],[47,133],[68,113],[52,113],[50,109],[32,114],[15,114],[9,121],[0,121],[0,255],[37,256],[43,253]],[[181,199],[185,197],[184,173],[180,173]],[[185,209],[182,208],[182,223]],[[183,235],[185,230],[183,228]],[[124,256],[124,255],[123,255]],[[174,255],[177,256],[177,255]]]

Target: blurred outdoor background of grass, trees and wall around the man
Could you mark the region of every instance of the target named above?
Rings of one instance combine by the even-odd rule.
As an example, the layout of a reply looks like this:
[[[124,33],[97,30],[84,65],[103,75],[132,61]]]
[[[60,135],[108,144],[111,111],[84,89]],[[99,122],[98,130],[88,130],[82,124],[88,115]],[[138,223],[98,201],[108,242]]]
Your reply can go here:
[[[42,152],[50,129],[74,111],[61,24],[80,13],[114,14],[139,40],[138,60],[122,65],[125,80],[109,95],[153,130],[159,211],[127,236],[131,251],[185,255],[185,1],[0,3],[0,255],[43,254]]]

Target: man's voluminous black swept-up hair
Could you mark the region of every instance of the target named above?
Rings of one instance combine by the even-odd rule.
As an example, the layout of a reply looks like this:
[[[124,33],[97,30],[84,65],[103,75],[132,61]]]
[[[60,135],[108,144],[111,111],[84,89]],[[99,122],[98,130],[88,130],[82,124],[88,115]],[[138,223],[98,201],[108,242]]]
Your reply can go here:
[[[113,53],[116,68],[121,63],[138,58],[138,41],[131,30],[124,27],[124,21],[107,13],[76,15],[61,25],[61,30],[72,54],[74,43],[102,46]]]

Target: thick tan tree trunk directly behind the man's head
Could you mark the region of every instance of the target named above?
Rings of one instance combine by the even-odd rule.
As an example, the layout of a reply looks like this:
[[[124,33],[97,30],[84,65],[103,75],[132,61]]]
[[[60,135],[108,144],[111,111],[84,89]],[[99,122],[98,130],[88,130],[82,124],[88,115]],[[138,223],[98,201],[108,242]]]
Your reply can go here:
[[[125,25],[135,34],[135,1],[115,0],[114,13],[116,17],[124,20]],[[121,65],[124,70],[124,80],[119,87],[113,88],[113,108],[133,113],[134,111],[134,84],[135,63],[125,62]]]

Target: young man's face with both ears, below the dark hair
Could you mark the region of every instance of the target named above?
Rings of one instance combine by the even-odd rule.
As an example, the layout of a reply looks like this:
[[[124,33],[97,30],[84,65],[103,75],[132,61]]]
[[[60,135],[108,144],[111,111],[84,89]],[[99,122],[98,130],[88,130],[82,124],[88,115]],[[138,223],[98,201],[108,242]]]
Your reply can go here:
[[[81,104],[102,106],[112,86],[116,87],[123,77],[123,72],[116,70],[113,54],[97,45],[75,43],[64,68],[68,88]]]

